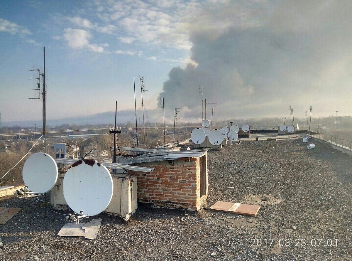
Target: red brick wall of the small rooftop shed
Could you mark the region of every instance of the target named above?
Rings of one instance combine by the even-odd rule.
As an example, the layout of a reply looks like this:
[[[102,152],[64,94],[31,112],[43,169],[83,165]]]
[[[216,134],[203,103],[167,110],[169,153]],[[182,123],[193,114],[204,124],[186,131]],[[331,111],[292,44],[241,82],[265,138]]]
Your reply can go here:
[[[137,175],[139,201],[188,210],[199,210],[206,202],[207,193],[200,195],[200,157],[135,165],[154,168],[150,173],[133,172]]]

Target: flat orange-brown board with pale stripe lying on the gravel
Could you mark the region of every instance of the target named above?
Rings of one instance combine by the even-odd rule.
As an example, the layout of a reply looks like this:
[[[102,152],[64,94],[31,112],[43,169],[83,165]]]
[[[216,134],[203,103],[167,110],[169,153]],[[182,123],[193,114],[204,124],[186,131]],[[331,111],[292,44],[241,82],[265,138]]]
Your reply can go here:
[[[222,211],[239,215],[256,216],[260,206],[241,203],[217,201],[210,207],[210,210]]]

